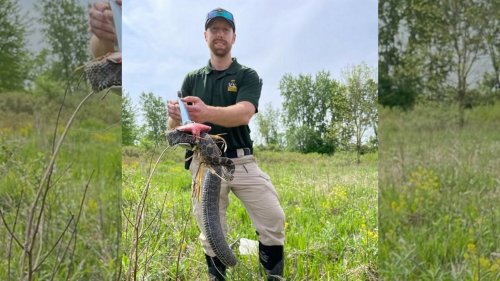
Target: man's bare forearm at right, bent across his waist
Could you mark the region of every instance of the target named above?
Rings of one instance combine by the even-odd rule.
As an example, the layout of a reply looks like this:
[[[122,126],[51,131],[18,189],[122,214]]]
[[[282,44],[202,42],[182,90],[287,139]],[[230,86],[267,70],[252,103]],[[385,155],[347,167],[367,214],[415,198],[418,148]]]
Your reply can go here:
[[[227,107],[209,106],[207,121],[226,128],[248,125],[255,113],[255,107],[249,102],[239,102]]]

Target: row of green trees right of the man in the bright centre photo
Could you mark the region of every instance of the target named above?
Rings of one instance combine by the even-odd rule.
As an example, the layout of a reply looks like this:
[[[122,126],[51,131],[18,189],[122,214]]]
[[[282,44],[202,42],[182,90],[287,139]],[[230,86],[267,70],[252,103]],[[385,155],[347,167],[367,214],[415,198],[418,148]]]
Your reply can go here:
[[[340,80],[327,71],[280,81],[281,109],[270,105],[257,114],[266,145],[291,151],[333,154],[377,148],[377,82],[374,70],[361,63],[342,70]]]

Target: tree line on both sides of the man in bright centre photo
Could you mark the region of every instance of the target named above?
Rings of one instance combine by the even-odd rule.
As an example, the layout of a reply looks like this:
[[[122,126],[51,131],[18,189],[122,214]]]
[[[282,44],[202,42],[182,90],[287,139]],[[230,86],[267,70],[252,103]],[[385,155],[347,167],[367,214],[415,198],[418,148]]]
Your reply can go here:
[[[327,71],[283,75],[282,108],[270,104],[256,114],[262,146],[268,149],[333,154],[355,150],[360,155],[377,148],[377,89],[374,70],[366,64],[346,68],[337,81]],[[141,114],[143,121],[138,124]],[[124,145],[164,142],[166,104],[154,93],[140,95],[137,110],[129,94],[123,96]]]

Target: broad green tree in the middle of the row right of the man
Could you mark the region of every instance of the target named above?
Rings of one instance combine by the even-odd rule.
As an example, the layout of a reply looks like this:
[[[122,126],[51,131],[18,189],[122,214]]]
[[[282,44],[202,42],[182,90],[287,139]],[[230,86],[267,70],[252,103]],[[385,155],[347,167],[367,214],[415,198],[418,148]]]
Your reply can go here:
[[[334,153],[338,134],[332,128],[342,120],[345,101],[330,73],[320,71],[315,79],[311,75],[285,74],[280,91],[287,147],[305,153]]]

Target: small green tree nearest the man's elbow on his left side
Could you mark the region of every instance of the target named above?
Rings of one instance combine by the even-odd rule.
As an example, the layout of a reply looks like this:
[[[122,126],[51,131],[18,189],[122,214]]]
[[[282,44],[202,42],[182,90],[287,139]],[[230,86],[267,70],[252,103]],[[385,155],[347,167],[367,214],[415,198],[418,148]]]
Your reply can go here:
[[[164,133],[167,130],[167,109],[161,97],[153,93],[142,93],[140,97],[141,109],[145,120],[145,136],[155,144],[165,141]]]

